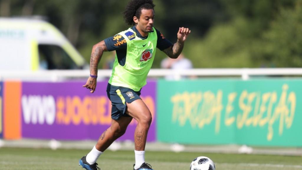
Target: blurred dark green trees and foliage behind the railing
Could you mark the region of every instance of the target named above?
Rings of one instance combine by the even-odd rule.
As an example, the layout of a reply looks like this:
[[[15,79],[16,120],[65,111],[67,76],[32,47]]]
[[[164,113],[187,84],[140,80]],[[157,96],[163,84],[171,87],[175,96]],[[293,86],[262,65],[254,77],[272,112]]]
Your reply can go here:
[[[154,0],[155,27],[176,41],[192,33],[183,53],[195,68],[302,66],[302,0]],[[127,1],[0,0],[0,16],[43,16],[89,62],[92,46],[127,29]],[[104,53],[99,68],[112,53]],[[166,57],[158,50],[153,68]]]

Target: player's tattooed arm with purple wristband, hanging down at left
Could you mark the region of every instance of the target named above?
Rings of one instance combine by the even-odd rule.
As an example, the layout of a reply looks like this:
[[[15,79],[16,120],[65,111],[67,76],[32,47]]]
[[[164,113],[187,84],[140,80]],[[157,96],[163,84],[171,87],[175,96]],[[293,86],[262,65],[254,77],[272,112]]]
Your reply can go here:
[[[92,47],[90,56],[90,74],[93,76],[98,75],[98,63],[100,62],[104,51],[108,51],[104,41],[101,41]],[[89,76],[86,84],[83,85],[83,87],[90,89],[90,93],[95,92],[96,78]]]

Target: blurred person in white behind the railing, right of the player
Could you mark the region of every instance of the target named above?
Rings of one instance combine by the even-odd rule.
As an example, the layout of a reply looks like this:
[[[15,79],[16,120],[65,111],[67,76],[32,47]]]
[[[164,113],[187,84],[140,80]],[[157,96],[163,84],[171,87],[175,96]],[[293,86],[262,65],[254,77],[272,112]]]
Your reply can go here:
[[[162,68],[172,69],[172,70],[177,70],[177,71],[193,68],[191,60],[186,58],[183,54],[180,54],[176,59],[166,57],[165,59],[162,60],[160,65]],[[182,76],[181,78],[185,78],[185,76]],[[177,76],[167,75],[167,76],[165,76],[165,79],[175,80],[175,79],[177,79]]]

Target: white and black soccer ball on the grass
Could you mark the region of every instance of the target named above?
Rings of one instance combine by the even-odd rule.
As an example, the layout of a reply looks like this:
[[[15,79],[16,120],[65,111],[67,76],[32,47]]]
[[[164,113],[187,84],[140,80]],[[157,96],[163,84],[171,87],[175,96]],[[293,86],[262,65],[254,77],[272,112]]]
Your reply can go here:
[[[215,170],[215,164],[210,158],[199,156],[192,161],[190,170]]]

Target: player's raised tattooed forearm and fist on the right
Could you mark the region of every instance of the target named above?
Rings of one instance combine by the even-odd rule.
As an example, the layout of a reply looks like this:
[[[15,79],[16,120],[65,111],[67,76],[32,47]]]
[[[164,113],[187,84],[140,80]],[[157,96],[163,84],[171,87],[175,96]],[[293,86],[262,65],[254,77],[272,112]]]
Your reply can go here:
[[[182,53],[182,49],[185,45],[185,40],[187,39],[188,35],[191,33],[191,30],[189,28],[179,28],[177,33],[177,42],[172,45],[171,47],[163,50],[167,56],[170,58],[177,58],[180,53]]]

